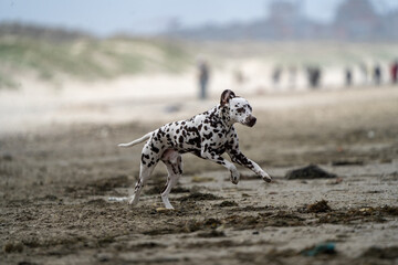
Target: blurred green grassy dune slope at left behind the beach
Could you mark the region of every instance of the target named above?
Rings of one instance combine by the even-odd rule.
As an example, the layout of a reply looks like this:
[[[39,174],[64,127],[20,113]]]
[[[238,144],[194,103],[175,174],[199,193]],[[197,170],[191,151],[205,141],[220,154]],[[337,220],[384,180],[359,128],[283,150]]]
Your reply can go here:
[[[53,43],[28,38],[0,38],[0,88],[18,86],[23,74],[53,82],[60,76],[83,81],[143,72],[179,73],[192,64],[178,43],[157,40],[76,40]]]

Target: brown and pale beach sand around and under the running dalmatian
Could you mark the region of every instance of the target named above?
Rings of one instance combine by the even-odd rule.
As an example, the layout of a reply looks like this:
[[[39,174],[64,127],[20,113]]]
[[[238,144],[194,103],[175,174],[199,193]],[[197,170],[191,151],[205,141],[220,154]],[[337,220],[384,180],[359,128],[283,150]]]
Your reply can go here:
[[[2,128],[1,264],[397,264],[398,88],[240,94],[258,117],[253,128],[237,125],[241,149],[274,181],[240,168],[233,186],[223,168],[187,155],[175,211],[156,210],[161,165],[137,208],[107,201],[127,195],[138,174],[140,147],[116,144],[216,96],[46,102],[38,114],[48,119]],[[337,178],[284,178],[308,163]],[[322,200],[331,210],[311,211]],[[335,254],[301,253],[325,242]]]

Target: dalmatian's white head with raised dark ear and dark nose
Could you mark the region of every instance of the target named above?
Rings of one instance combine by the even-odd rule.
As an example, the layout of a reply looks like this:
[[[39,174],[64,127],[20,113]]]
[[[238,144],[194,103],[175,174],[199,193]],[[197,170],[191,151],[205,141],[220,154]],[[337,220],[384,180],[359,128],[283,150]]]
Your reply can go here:
[[[256,118],[252,115],[249,102],[243,97],[235,96],[232,91],[227,89],[221,94],[220,105],[228,109],[231,121],[249,127],[254,126]]]

